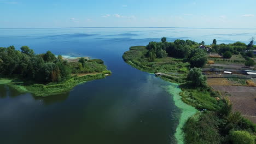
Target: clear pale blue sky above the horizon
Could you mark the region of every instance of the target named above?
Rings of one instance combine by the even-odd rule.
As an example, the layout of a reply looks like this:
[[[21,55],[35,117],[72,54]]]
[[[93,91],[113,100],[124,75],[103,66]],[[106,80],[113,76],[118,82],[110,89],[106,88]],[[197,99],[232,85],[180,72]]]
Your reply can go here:
[[[256,28],[255,0],[0,0],[0,28]]]

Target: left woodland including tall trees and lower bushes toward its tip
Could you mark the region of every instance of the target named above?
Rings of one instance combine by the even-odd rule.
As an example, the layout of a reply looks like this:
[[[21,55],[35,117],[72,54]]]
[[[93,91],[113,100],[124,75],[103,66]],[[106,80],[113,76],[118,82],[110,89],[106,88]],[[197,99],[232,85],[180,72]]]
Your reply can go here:
[[[14,46],[0,47],[0,69],[0,75],[18,76],[37,83],[61,82],[71,74],[107,70],[101,59],[80,58],[79,62],[67,62],[50,51],[36,55],[28,46],[22,46],[20,51]]]

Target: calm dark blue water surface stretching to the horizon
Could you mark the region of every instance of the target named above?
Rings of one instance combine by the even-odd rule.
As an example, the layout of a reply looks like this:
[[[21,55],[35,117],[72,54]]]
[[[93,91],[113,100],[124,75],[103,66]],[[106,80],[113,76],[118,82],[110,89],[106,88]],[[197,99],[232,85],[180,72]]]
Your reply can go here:
[[[69,93],[38,98],[0,85],[1,143],[173,143],[179,110],[165,82],[127,65],[122,55],[149,41],[191,39],[248,43],[256,29],[0,29],[0,46],[103,59],[113,72]]]

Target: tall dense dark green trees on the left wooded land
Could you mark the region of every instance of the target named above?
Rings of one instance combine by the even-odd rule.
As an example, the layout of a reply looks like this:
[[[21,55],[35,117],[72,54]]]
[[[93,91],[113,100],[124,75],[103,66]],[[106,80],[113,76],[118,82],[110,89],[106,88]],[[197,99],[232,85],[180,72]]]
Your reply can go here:
[[[71,74],[67,61],[50,51],[36,55],[28,46],[21,51],[14,46],[0,47],[0,74],[18,75],[37,82],[56,82],[66,80]]]

